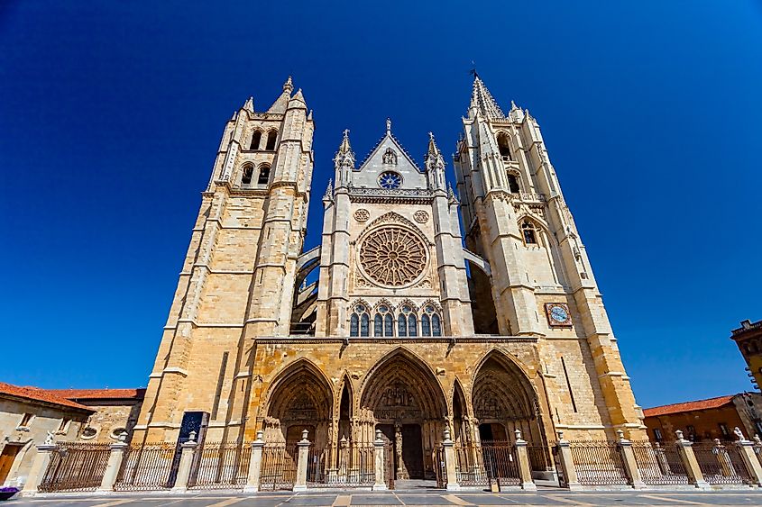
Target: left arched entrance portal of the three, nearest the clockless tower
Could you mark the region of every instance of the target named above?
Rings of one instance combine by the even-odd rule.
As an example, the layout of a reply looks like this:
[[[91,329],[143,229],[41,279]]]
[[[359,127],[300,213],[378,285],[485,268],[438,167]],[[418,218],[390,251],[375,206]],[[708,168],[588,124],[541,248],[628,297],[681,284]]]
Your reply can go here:
[[[286,368],[273,383],[269,400],[265,440],[292,445],[308,430],[316,446],[326,447],[333,395],[317,367],[301,360]]]

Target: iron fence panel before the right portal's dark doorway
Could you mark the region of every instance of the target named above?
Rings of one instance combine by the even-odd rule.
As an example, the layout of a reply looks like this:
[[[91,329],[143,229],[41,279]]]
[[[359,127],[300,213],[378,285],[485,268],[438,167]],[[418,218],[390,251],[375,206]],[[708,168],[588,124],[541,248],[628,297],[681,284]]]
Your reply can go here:
[[[464,486],[519,485],[519,459],[509,441],[482,440],[481,444],[455,446],[455,475]]]

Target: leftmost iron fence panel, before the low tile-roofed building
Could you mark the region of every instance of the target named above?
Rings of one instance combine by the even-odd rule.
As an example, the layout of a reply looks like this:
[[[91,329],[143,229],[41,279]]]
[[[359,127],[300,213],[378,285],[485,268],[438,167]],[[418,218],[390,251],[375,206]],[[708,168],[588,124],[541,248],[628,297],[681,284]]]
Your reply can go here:
[[[106,473],[110,444],[61,442],[40,484],[45,493],[94,491]]]

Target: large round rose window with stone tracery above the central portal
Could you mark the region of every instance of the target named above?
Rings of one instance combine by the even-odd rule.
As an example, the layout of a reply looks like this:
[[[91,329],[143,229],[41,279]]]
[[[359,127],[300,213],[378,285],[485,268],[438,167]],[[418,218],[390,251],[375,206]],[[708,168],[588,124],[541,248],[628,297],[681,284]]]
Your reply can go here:
[[[401,227],[373,231],[360,249],[365,273],[383,285],[408,285],[426,266],[426,247],[418,236]]]

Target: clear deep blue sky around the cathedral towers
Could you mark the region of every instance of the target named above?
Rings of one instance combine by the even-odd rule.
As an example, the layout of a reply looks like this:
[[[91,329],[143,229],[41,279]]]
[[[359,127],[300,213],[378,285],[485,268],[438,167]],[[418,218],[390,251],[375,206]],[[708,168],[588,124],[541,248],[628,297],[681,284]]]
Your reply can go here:
[[[452,151],[472,60],[528,107],[643,406],[751,389],[762,6],[0,3],[0,380],[145,385],[225,121],[293,75],[319,196],[344,128]],[[452,175],[452,165],[448,171]]]

